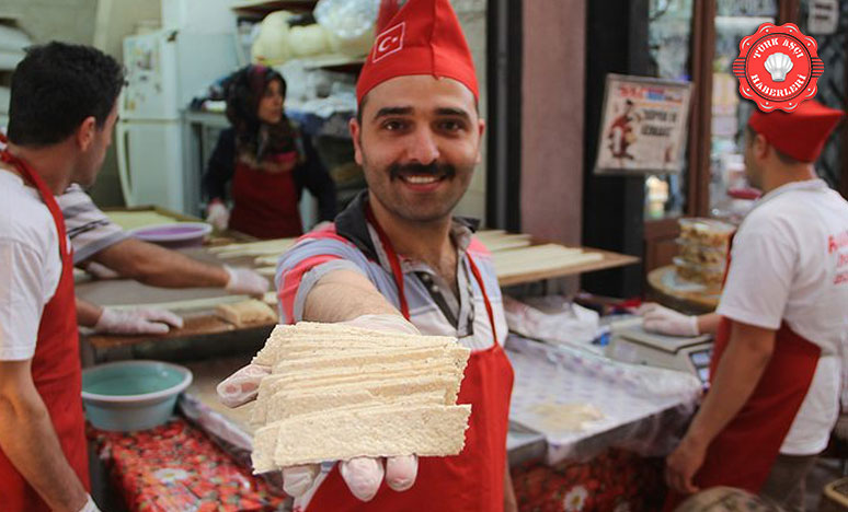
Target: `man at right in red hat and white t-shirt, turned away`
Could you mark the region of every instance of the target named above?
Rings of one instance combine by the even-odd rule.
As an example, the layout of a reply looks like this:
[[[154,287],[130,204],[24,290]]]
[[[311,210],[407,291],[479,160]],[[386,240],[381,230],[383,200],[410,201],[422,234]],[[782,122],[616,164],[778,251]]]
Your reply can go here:
[[[848,336],[848,202],[813,165],[841,115],[807,101],[750,116],[746,173],[764,196],[734,236],[717,314],[645,314],[649,329],[717,330],[711,388],[667,459],[668,509],[731,486],[803,510],[804,477],[837,419]]]

